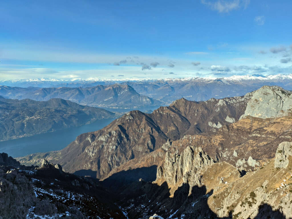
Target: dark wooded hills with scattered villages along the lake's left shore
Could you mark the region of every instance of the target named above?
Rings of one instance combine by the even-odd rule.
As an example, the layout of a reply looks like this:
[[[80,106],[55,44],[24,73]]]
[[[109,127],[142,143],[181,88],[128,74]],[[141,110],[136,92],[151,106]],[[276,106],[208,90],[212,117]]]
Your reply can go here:
[[[0,141],[52,132],[115,116],[115,113],[104,109],[81,106],[63,99],[34,101],[1,99],[0,96]]]

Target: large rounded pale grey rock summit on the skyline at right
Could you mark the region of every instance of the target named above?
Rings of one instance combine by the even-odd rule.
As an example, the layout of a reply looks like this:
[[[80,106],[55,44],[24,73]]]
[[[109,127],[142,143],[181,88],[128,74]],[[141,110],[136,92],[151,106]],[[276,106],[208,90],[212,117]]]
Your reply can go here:
[[[258,118],[280,117],[291,113],[292,92],[278,86],[263,86],[253,92],[244,115]]]

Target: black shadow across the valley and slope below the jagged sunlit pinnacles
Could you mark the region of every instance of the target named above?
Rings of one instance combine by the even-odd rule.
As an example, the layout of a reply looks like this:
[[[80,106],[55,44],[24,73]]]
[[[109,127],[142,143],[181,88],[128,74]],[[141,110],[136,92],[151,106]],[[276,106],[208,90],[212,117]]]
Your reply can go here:
[[[190,185],[183,183],[171,197],[171,188],[168,188],[166,182],[160,186],[151,182],[155,180],[154,170],[156,166],[121,171],[102,182],[117,194],[119,199],[117,204],[127,209],[128,218],[149,218],[154,213],[163,218],[238,218],[238,213],[233,215],[232,211],[226,212],[227,217],[218,217],[207,202],[213,190],[207,192],[204,185],[192,187],[189,195]],[[143,176],[147,180],[139,181]],[[259,207],[255,218],[286,219],[281,210],[273,211],[268,204]]]

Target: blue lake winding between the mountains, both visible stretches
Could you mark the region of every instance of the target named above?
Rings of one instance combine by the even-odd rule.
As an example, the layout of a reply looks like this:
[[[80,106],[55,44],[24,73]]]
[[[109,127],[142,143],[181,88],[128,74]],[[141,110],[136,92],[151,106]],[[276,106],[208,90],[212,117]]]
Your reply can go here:
[[[159,106],[151,106],[144,108],[137,108],[133,110],[154,110]],[[110,109],[109,111],[128,112],[131,109]],[[81,125],[78,127],[71,127],[61,129],[56,132],[48,132],[43,134],[37,134],[20,139],[12,139],[8,141],[0,141],[0,153],[7,153],[11,157],[22,157],[37,152],[48,152],[52,150],[61,150],[65,148],[69,143],[74,141],[76,137],[82,133],[93,132],[111,123],[115,118],[100,119],[90,124]]]

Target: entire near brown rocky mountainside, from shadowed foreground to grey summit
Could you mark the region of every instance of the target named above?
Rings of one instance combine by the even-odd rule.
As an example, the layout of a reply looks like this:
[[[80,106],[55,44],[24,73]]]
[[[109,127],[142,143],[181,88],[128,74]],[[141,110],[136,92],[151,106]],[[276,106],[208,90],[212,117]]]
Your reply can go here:
[[[2,178],[27,184],[24,218],[292,218],[291,98],[264,86],[131,111],[37,164],[2,154]]]

